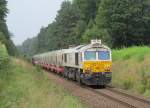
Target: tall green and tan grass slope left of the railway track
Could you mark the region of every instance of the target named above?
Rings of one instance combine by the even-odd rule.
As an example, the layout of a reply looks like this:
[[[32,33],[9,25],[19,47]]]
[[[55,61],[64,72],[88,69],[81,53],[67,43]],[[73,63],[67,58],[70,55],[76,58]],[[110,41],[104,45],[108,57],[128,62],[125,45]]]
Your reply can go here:
[[[12,59],[0,69],[0,108],[85,108],[38,67]]]

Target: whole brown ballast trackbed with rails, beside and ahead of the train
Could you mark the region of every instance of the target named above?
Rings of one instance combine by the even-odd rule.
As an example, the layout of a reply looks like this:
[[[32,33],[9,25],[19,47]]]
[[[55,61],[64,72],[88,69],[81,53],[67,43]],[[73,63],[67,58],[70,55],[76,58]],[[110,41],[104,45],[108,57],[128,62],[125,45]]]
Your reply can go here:
[[[111,87],[105,89],[81,87],[53,73],[48,73],[48,76],[50,80],[64,87],[72,95],[79,97],[83,103],[88,104],[89,108],[150,108],[150,100],[130,95],[124,91]]]

